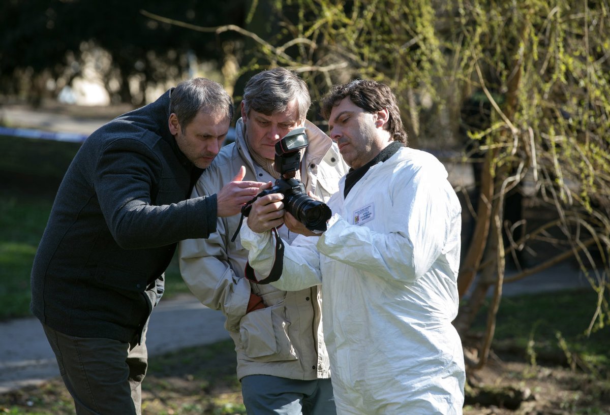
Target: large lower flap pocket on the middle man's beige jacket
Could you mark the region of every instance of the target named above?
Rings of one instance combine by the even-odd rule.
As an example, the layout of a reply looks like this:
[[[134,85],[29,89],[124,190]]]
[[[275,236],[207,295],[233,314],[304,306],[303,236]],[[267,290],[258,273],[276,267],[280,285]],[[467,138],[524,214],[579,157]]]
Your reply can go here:
[[[288,337],[289,322],[282,317],[284,305],[262,308],[242,317],[240,348],[246,360],[268,362],[297,360]]]

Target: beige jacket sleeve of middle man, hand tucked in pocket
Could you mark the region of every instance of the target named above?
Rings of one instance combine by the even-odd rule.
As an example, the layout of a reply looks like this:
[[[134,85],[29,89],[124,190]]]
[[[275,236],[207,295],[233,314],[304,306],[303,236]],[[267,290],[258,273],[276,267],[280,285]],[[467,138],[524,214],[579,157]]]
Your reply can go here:
[[[200,177],[192,197],[205,194],[204,177]],[[213,310],[221,310],[227,317],[226,328],[239,332],[240,319],[246,314],[250,298],[250,284],[239,278],[229,266],[227,248],[221,235],[224,230],[221,218],[218,232],[207,239],[185,239],[178,247],[182,279],[197,299]]]

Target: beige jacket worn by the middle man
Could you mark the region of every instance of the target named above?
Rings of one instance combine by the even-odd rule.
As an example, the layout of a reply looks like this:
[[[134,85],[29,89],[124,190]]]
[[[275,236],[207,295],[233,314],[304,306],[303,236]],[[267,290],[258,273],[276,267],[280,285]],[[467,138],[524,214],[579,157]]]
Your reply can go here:
[[[339,190],[339,179],[347,166],[336,144],[325,133],[309,121],[306,127],[309,147],[301,162],[301,180],[306,191],[326,201]],[[246,167],[244,180],[274,181],[248,154],[241,119],[235,133],[235,143],[221,149],[199,178],[192,197],[217,193],[242,165]],[[226,316],[225,327],[237,351],[237,376],[328,378],[320,287],[286,292],[244,278],[248,251],[243,248],[240,236],[231,242],[239,219],[240,215],[218,218],[217,232],[209,238],[187,239],[179,245],[180,270],[188,288],[204,305],[221,310]],[[287,243],[292,243],[296,236],[285,227],[280,227],[279,233]],[[261,296],[267,307],[246,314],[251,292]]]

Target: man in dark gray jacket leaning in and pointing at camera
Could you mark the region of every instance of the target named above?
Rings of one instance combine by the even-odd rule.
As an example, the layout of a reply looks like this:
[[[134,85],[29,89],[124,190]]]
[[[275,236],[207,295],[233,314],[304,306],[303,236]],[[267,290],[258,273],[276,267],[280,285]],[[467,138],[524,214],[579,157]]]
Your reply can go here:
[[[217,82],[181,82],[91,133],[68,168],[34,258],[31,308],[77,414],[140,414],[146,326],[176,244],[207,238],[262,184],[238,168],[215,194],[188,199],[232,113]]]

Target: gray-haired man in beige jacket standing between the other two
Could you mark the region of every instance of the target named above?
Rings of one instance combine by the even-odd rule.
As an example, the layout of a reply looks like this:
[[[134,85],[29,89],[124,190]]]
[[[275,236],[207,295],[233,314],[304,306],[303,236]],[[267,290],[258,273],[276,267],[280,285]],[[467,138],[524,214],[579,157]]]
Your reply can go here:
[[[223,147],[202,174],[193,197],[215,193],[231,174],[246,168],[246,180],[270,182],[275,144],[291,130],[306,127],[309,138],[297,179],[320,199],[339,189],[346,172],[336,144],[306,121],[310,106],[306,84],[295,73],[274,68],[253,76],[243,95],[235,143]],[[182,277],[207,307],[221,310],[235,342],[237,376],[248,414],[335,414],[328,353],[321,324],[319,287],[281,291],[244,277],[248,252],[239,236],[240,215],[218,218],[207,239],[187,239],[179,246]],[[296,236],[278,230],[282,239]]]

